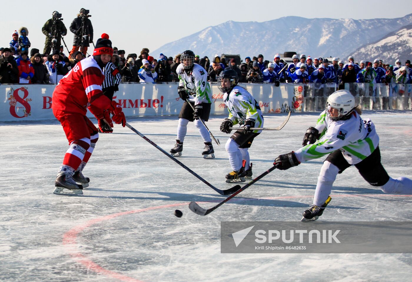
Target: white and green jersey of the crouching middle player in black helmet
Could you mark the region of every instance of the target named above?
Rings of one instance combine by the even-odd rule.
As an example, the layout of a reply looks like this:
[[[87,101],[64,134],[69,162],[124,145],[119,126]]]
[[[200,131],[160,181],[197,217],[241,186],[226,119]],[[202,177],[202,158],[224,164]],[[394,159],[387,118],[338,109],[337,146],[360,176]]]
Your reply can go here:
[[[232,91],[223,95],[223,101],[229,110],[228,119],[232,120],[233,124],[243,124],[243,121],[248,118],[255,120],[254,127],[263,127],[263,115],[258,102],[253,96],[243,87],[235,86]],[[254,130],[255,133],[260,133],[262,130]]]

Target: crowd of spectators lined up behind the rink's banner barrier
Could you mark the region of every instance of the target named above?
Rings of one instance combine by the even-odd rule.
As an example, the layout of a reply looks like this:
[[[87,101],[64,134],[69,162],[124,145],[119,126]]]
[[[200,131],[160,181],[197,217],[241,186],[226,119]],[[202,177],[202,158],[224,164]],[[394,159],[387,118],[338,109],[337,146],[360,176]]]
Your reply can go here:
[[[88,12],[82,8],[70,25],[69,29],[74,33],[75,40],[73,49],[67,56],[63,45],[60,45],[67,29],[59,18],[61,14],[57,11],[53,12],[52,19],[49,19],[42,29],[46,35],[43,54],[39,49],[31,48],[26,27],[12,32],[9,45],[0,48],[0,83],[57,84],[76,63],[88,55],[87,47],[93,42],[93,27],[88,19]],[[82,22],[87,22],[87,28],[82,26]],[[121,82],[178,81],[176,68],[180,64],[180,54],[168,57],[161,53],[156,59],[150,56],[147,48],[143,48],[140,54],[130,53],[127,56],[124,50],[117,47],[114,47],[113,51],[112,63],[121,76]],[[264,60],[261,54],[253,56],[252,59],[248,56],[240,64],[237,64],[235,59],[226,61],[218,55],[213,56],[212,60],[208,56],[195,56],[195,63],[206,69],[208,81],[211,82],[216,82],[220,72],[225,69],[236,71],[241,83],[273,83],[276,86],[285,82],[332,82],[338,84],[339,89],[343,89],[345,83],[351,82],[364,82],[370,85],[412,82],[410,60],[405,60],[403,64],[397,59],[392,65],[391,62],[383,62],[380,59],[356,62],[353,56],[349,56],[345,62],[337,57],[329,61],[327,58],[295,54],[292,61],[286,63],[279,54],[274,55],[272,61]]]

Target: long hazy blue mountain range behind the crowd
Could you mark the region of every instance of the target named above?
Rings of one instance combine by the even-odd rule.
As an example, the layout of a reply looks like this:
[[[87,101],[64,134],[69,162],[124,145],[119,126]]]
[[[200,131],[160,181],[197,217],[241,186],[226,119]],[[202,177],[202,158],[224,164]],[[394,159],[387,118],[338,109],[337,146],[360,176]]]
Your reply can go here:
[[[160,53],[175,56],[191,49],[200,56],[215,54],[263,54],[271,60],[276,53],[295,51],[311,56],[339,56],[384,35],[412,24],[412,14],[396,19],[306,19],[286,16],[272,21],[227,21],[209,26],[179,40],[167,43],[150,52],[157,58]]]

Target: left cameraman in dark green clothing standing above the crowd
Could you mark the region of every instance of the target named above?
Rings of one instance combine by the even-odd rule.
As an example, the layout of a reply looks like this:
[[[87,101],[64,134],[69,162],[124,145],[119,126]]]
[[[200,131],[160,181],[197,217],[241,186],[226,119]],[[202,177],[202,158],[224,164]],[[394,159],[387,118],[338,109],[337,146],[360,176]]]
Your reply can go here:
[[[54,11],[52,15],[52,18],[48,19],[42,27],[42,33],[46,35],[43,54],[50,54],[51,51],[58,49],[57,47],[61,44],[61,37],[67,34],[67,28],[61,21],[61,14]]]

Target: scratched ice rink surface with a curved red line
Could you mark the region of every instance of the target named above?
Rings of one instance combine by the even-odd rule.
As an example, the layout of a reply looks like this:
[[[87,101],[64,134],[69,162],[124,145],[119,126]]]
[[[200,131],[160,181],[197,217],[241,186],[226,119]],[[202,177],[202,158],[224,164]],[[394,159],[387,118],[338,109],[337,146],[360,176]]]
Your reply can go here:
[[[250,149],[253,174],[300,147],[318,113],[293,113],[281,131],[260,134]],[[265,115],[277,127],[286,114]],[[224,117],[207,123],[220,139],[214,160],[192,123],[178,160],[212,185],[230,188]],[[365,112],[380,136],[392,177],[412,177],[412,112]],[[176,117],[128,122],[169,151]],[[101,134],[84,169],[84,196],[53,195],[68,148],[56,121],[0,123],[0,281],[407,281],[410,254],[220,254],[220,221],[299,221],[311,203],[322,160],[275,170],[208,216],[187,204],[225,196],[192,176],[127,127]],[[412,197],[385,195],[353,167],[337,176],[323,221],[409,221]],[[183,212],[178,219],[175,209]]]

